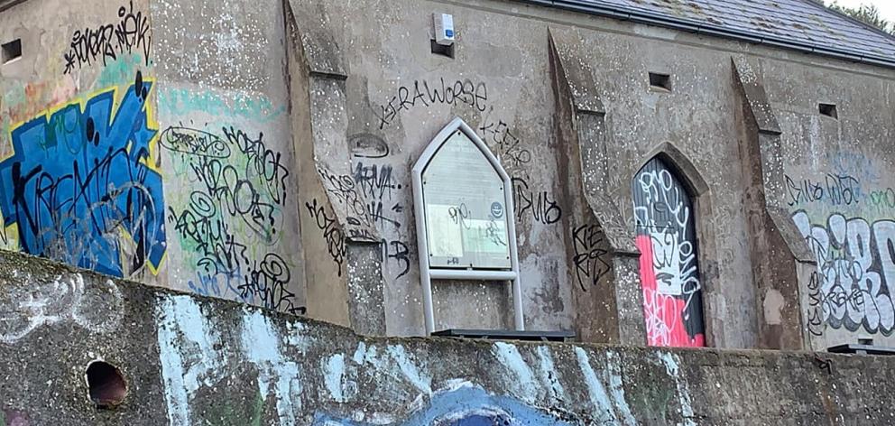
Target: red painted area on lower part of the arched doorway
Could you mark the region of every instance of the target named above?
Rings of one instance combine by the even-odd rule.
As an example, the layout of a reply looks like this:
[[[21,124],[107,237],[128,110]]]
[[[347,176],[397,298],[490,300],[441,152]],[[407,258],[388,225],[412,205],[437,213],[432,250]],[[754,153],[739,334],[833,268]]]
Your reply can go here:
[[[650,236],[637,236],[636,245],[641,250],[643,316],[646,319],[647,344],[661,347],[706,346],[704,333],[698,333],[693,338],[687,335],[687,327],[684,325],[687,301],[657,291],[659,285],[652,264]]]

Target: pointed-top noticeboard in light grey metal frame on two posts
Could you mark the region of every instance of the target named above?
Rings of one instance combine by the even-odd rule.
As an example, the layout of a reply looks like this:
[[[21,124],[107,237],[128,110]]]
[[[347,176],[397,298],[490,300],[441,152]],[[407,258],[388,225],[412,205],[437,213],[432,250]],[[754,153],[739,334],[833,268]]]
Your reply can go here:
[[[427,333],[438,279],[512,282],[514,322],[524,330],[510,176],[463,120],[442,129],[413,166],[413,199]]]

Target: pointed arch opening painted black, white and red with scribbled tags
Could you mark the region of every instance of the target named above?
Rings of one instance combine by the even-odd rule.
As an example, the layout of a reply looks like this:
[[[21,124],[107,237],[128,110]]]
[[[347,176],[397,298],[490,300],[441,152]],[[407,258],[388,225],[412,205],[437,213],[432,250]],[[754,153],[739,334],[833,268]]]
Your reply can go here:
[[[705,346],[693,197],[659,157],[638,171],[632,192],[647,343]]]

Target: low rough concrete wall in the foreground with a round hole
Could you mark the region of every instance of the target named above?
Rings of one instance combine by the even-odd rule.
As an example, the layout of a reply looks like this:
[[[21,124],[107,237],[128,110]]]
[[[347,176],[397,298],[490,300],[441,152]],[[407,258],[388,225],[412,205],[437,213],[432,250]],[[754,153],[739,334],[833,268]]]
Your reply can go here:
[[[114,409],[97,359],[125,377]],[[0,372],[0,424],[895,421],[890,357],[360,338],[5,252]]]

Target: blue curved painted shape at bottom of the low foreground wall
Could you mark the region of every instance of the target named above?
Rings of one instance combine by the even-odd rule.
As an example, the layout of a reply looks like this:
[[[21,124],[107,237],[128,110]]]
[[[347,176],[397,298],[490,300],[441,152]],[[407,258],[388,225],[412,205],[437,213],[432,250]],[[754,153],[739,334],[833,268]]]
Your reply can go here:
[[[488,394],[474,386],[432,397],[429,407],[394,426],[541,426],[570,425],[547,412],[506,396]],[[372,424],[318,414],[316,426],[372,426]]]

